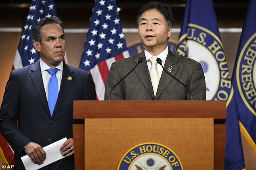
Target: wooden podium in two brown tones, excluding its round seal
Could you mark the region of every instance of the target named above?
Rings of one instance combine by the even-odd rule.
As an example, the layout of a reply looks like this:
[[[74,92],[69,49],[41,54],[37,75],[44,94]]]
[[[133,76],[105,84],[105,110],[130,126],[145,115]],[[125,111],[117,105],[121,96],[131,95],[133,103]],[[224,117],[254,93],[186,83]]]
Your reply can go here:
[[[79,100],[73,119],[76,170],[117,170],[147,142],[169,147],[184,170],[224,169],[225,101]]]

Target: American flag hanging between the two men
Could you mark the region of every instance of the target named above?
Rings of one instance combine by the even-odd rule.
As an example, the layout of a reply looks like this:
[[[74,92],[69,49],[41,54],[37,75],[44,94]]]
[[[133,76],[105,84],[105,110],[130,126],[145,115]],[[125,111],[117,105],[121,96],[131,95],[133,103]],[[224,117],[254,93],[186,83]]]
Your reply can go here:
[[[104,100],[111,64],[129,56],[115,0],[96,0],[80,68],[92,74],[98,100]]]

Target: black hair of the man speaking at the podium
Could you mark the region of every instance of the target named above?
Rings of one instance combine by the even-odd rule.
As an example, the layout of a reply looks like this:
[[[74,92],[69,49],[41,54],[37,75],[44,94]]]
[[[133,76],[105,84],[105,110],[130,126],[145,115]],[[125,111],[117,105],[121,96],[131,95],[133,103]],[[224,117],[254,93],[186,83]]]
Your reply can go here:
[[[150,1],[141,7],[137,15],[137,24],[139,23],[142,13],[151,9],[156,9],[164,15],[168,29],[171,26],[173,27],[174,16],[172,14],[171,7],[168,4],[163,4],[162,2],[158,1]]]

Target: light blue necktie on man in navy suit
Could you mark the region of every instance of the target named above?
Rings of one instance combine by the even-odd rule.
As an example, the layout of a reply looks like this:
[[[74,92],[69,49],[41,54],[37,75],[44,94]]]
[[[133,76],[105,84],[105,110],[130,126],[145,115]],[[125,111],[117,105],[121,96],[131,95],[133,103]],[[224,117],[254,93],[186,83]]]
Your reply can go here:
[[[51,74],[49,84],[48,84],[48,107],[50,109],[51,116],[59,95],[58,79],[55,75],[58,70],[59,69],[57,68],[50,68],[46,70],[48,73]]]

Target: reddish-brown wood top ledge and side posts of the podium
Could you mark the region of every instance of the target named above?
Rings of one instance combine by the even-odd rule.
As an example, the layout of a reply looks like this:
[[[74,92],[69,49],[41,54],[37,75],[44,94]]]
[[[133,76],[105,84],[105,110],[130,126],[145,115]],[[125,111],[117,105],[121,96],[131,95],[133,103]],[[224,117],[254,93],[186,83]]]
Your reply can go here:
[[[158,110],[157,112],[149,109],[152,105],[156,108],[155,110]],[[73,111],[74,119],[86,120],[91,118],[226,119],[226,103],[224,101],[74,101]],[[87,126],[85,125],[85,127]],[[84,170],[84,155],[82,154],[84,143],[81,142],[81,140],[84,142],[83,125],[73,125],[73,133],[76,170]],[[214,124],[214,170],[224,167],[225,133],[224,124]],[[172,148],[170,147],[170,149]],[[83,151],[81,152],[81,150]],[[181,160],[181,162],[184,161]]]

